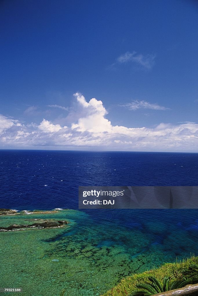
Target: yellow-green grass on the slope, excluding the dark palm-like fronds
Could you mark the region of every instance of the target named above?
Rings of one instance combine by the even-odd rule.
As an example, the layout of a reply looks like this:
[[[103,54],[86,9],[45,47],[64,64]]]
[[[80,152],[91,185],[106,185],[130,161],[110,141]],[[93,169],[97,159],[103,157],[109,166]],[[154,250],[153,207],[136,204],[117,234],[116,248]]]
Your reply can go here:
[[[191,256],[182,262],[164,263],[159,268],[133,274],[121,280],[121,282],[101,296],[129,296],[136,290],[136,285],[148,281],[149,276],[154,276],[160,282],[164,276],[170,276],[170,282],[183,279],[182,269],[198,264],[198,256]]]

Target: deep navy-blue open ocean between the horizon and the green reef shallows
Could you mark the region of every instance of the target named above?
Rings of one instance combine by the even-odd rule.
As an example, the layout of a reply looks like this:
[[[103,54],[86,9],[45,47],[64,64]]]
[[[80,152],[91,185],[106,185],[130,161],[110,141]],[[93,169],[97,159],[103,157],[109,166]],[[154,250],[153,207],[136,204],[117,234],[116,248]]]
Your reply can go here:
[[[0,164],[0,207],[17,210],[78,210],[78,186],[198,186],[198,153],[0,150]],[[83,211],[129,227],[159,217],[190,227],[198,217],[198,210]]]

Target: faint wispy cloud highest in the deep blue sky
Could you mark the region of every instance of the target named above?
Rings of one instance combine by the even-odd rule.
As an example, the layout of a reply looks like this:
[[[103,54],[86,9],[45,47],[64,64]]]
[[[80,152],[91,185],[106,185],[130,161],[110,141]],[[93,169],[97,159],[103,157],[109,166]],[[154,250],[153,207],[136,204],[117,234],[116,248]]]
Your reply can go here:
[[[116,62],[113,63],[112,66],[115,66],[116,64],[123,64],[132,62],[137,65],[141,65],[145,69],[151,69],[155,64],[155,54],[137,54],[137,52],[126,52],[125,54],[122,54],[116,59]]]

